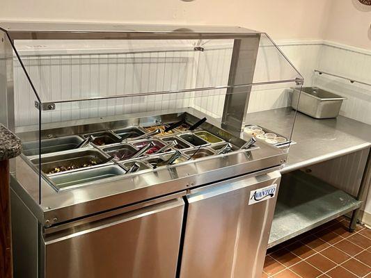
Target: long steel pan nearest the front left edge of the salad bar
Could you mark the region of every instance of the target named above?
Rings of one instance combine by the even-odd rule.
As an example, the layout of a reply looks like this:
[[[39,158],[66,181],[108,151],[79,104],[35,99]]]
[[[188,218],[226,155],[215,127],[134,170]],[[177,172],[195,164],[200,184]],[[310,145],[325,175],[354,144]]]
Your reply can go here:
[[[125,174],[125,170],[118,165],[106,165],[102,167],[96,167],[94,169],[87,169],[78,172],[58,174],[49,177],[55,184],[58,190],[68,190],[81,186],[88,186],[90,183],[100,181],[103,179],[109,179],[112,177],[120,176]]]

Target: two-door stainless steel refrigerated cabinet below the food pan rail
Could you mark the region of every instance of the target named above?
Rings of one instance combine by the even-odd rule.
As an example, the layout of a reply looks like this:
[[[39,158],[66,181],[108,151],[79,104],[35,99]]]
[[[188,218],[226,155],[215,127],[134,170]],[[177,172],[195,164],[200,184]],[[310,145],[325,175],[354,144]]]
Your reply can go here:
[[[13,191],[15,278],[258,278],[276,195],[248,203],[280,179],[250,174],[48,229]]]

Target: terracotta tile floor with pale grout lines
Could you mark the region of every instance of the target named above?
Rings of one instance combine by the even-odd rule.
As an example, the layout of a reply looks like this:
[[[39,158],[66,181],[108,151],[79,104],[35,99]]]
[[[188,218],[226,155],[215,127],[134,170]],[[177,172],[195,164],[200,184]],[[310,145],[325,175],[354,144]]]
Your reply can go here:
[[[371,278],[371,229],[340,217],[267,251],[262,277]]]

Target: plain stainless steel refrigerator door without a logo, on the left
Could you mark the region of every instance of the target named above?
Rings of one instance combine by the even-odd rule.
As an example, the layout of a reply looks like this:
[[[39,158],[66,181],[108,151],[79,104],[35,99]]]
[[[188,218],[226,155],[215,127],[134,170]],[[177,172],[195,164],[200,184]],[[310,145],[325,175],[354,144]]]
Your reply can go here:
[[[181,198],[45,236],[46,278],[174,278]]]

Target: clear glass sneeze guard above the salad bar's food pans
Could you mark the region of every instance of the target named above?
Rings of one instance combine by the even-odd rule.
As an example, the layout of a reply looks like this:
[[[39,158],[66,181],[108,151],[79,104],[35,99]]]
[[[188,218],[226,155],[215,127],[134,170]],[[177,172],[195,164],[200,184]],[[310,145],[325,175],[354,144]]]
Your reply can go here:
[[[284,131],[260,121],[257,113],[267,120],[275,109],[289,111],[290,90],[300,87],[302,77],[265,33],[244,32],[228,33],[228,38],[200,33],[200,39],[194,34],[178,38],[178,33],[171,39],[171,32],[166,39],[154,33],[143,40],[141,34],[130,40],[15,39],[15,131],[29,146],[39,134],[46,144],[40,144],[31,165],[45,167],[41,158],[47,156],[48,144],[53,146],[48,130],[151,113],[200,111],[208,121],[243,131],[241,138],[250,136],[245,125],[258,125],[289,143],[292,110]],[[35,88],[37,95],[23,90],[25,86]],[[41,111],[35,108],[37,97]],[[237,106],[235,97],[241,99]],[[74,136],[59,142],[58,152],[84,140],[83,131]]]

